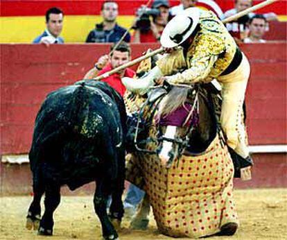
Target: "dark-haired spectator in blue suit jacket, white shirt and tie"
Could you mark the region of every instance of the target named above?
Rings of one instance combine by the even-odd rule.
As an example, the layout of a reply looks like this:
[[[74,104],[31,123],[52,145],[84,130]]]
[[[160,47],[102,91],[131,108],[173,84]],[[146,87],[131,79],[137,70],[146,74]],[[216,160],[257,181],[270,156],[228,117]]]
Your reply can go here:
[[[60,37],[63,28],[63,12],[60,8],[50,8],[46,11],[46,30],[33,40],[33,43],[62,44],[64,39]]]

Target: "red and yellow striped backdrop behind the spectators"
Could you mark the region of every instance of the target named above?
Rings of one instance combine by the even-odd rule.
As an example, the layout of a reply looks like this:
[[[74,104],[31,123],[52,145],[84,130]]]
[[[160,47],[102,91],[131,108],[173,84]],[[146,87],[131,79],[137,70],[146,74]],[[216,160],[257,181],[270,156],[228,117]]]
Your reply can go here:
[[[147,1],[118,0],[119,17],[118,24],[128,28],[134,19],[134,12]],[[180,1],[171,0],[171,6],[179,4]],[[233,8],[233,1],[216,1],[223,12]],[[260,1],[254,1],[259,3]],[[37,35],[40,35],[45,26],[45,12],[48,8],[59,7],[64,11],[64,28],[62,37],[65,42],[85,42],[87,34],[94,28],[96,22],[101,22],[101,1],[1,1],[1,43],[31,43]],[[202,8],[206,6],[202,5]],[[286,1],[280,0],[263,8],[259,12],[276,12],[283,21],[287,20]],[[4,33],[4,34],[3,34]]]

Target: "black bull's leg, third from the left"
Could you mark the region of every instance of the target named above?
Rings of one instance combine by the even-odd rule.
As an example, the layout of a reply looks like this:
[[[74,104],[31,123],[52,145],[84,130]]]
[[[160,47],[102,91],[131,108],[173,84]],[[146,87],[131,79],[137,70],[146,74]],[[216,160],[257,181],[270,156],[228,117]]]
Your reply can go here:
[[[109,182],[105,181],[103,178],[96,182],[96,191],[94,194],[94,209],[101,221],[103,238],[106,240],[117,239],[119,235],[117,234],[114,226],[110,222],[107,216],[107,196],[108,189],[110,189]]]

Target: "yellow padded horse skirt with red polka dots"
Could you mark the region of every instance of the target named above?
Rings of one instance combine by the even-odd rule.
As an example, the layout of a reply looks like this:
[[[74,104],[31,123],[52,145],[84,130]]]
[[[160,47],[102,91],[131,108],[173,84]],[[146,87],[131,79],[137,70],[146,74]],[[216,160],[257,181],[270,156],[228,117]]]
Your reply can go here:
[[[154,135],[155,128],[150,133]],[[149,148],[155,146],[150,144]],[[232,196],[233,164],[218,137],[205,155],[183,156],[170,169],[162,166],[156,155],[134,155],[131,159],[127,178],[145,184],[162,233],[198,238],[219,232],[225,223],[238,223]],[[130,173],[133,171],[136,173]]]

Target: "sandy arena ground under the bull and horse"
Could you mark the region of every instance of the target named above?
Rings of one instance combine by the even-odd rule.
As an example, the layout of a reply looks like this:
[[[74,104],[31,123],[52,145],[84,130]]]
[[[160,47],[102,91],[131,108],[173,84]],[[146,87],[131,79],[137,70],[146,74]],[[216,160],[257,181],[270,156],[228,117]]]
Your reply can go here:
[[[241,226],[234,237],[208,239],[287,239],[287,189],[248,189],[234,192]],[[92,196],[64,196],[55,212],[53,237],[26,230],[29,196],[0,198],[0,239],[101,239],[101,226],[94,214]],[[121,240],[172,239],[157,231],[154,220],[146,231],[128,229],[123,219]]]

